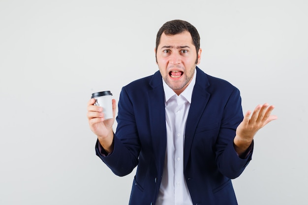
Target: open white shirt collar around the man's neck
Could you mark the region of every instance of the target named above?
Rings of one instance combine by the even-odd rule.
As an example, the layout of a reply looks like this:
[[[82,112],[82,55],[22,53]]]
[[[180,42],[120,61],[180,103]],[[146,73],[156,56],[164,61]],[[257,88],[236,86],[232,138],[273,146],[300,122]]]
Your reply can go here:
[[[196,83],[196,76],[197,76],[197,70],[195,69],[191,82],[188,84],[185,90],[179,95],[184,97],[189,103],[191,103],[192,90]],[[162,85],[165,92],[165,101],[168,102],[168,100],[171,97],[177,94],[166,84],[164,80],[162,80]]]

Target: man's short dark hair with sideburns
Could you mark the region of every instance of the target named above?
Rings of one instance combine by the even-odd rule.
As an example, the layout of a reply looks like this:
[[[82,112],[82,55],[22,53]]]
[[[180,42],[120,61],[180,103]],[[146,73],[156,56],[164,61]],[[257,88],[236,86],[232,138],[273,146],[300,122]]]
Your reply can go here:
[[[192,42],[196,48],[196,52],[197,52],[197,58],[198,58],[198,52],[200,49],[200,35],[197,31],[197,29],[192,26],[190,23],[183,21],[183,20],[172,20],[172,21],[168,21],[166,22],[164,25],[162,25],[162,27],[158,30],[157,35],[156,35],[156,53],[155,53],[155,57],[157,54],[157,48],[158,45],[160,43],[160,37],[162,33],[165,33],[166,35],[175,35],[175,34],[179,34],[182,33],[183,31],[187,30],[192,38]],[[156,59],[157,61],[157,59]],[[196,62],[198,61],[198,59],[196,59]]]

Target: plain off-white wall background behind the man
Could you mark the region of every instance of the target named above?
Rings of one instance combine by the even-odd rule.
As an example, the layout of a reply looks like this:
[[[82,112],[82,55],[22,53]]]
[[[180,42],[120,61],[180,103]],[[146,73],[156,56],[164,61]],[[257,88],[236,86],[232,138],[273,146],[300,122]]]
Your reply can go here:
[[[95,156],[87,102],[153,74],[157,30],[182,19],[200,33],[199,67],[239,88],[244,112],[276,106],[233,180],[239,204],[307,205],[307,11],[306,0],[0,0],[0,204],[128,204],[135,171],[115,176]]]

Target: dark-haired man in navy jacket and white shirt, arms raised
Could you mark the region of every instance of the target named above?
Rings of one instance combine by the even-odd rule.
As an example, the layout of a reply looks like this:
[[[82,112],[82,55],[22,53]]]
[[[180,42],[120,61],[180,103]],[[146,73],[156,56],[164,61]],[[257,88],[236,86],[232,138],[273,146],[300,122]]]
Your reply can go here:
[[[255,133],[277,118],[274,106],[243,118],[239,90],[196,66],[200,37],[188,22],[159,29],[155,56],[159,71],[122,88],[116,133],[115,100],[108,120],[89,101],[97,156],[118,176],[138,166],[130,205],[237,205],[231,179],[251,160]]]

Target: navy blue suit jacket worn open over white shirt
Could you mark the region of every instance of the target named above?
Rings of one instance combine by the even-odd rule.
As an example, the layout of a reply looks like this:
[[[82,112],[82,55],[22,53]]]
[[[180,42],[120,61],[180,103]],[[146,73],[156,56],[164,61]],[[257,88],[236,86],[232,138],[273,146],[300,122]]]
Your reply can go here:
[[[237,205],[231,179],[241,175],[251,154],[241,159],[233,139],[243,120],[241,96],[227,81],[198,67],[185,128],[184,175],[194,205]],[[114,150],[96,154],[118,176],[138,165],[130,205],[154,205],[166,153],[162,77],[154,75],[122,88]]]

